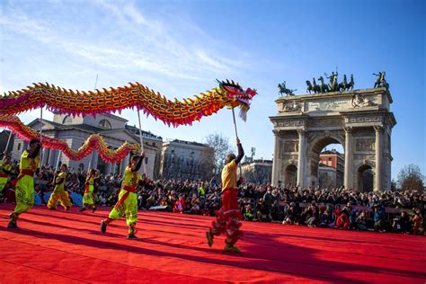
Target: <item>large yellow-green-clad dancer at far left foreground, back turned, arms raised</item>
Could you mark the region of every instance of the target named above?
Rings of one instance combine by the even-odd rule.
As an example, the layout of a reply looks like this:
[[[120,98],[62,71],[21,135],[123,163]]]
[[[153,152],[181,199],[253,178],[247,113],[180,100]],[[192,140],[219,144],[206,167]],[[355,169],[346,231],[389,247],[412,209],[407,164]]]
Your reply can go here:
[[[18,217],[34,205],[34,173],[40,174],[40,140],[31,139],[30,149],[24,150],[15,183],[16,207],[9,216],[8,228],[17,229]]]

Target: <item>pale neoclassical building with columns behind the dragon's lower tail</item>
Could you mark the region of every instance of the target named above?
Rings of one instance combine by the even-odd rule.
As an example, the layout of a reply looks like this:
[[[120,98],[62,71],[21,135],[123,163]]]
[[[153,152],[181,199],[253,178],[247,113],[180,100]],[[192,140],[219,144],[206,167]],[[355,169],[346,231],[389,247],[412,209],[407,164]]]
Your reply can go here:
[[[84,141],[92,134],[100,134],[113,149],[118,148],[124,142],[140,144],[139,129],[127,125],[128,120],[111,114],[98,114],[95,117],[85,116],[72,117],[66,114],[55,113],[53,121],[42,121],[42,133],[51,138],[58,138],[67,142],[68,146],[78,149],[84,144]],[[40,119],[31,121],[29,127],[40,130]],[[149,178],[156,178],[159,172],[159,158],[163,138],[154,134],[142,131],[144,139],[144,150],[146,153],[145,167],[146,175]],[[28,143],[21,138],[15,138],[13,141],[12,159],[19,160],[23,149],[26,149]],[[82,168],[87,170],[89,167],[99,169],[102,173],[123,173],[125,167],[129,164],[129,155],[119,164],[105,163],[94,150],[92,154],[84,157],[81,161],[70,160],[66,155],[59,155],[58,150],[44,148],[42,150],[42,164],[58,164],[60,161],[69,167]],[[143,171],[143,167],[141,167]]]

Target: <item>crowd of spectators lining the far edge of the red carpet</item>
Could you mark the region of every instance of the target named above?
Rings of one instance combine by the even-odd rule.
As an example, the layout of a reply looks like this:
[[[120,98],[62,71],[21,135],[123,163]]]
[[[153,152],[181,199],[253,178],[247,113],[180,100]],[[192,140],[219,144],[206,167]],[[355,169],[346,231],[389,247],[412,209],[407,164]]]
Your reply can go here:
[[[17,164],[13,164],[16,176]],[[41,200],[53,190],[56,169],[43,166],[36,191]],[[69,168],[65,188],[84,193],[86,173]],[[113,206],[120,191],[122,175],[97,173],[95,200],[100,206]],[[11,186],[8,184],[7,186]],[[6,188],[7,188],[6,186]],[[138,188],[139,209],[214,216],[220,208],[220,182],[155,180]],[[243,183],[238,188],[244,220],[282,224],[423,234],[426,194],[416,191],[353,191],[344,188],[319,189],[272,187]]]

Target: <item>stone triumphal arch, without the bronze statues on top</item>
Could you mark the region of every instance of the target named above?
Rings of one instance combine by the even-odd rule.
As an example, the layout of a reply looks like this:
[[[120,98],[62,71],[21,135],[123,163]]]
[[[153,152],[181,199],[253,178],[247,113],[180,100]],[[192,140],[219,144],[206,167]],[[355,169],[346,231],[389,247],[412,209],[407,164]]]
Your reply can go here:
[[[374,190],[390,190],[396,121],[387,87],[280,97],[277,114],[270,117],[275,136],[272,184],[317,186],[320,151],[338,143],[344,149],[345,188],[363,190],[362,173],[370,170]]]

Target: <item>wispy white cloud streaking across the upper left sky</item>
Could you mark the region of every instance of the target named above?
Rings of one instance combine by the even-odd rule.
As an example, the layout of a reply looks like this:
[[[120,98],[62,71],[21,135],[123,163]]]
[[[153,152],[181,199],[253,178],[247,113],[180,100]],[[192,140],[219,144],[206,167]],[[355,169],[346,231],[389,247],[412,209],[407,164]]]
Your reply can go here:
[[[101,0],[96,1],[96,4],[110,13],[110,22],[120,23],[116,27],[121,29],[120,39],[114,36],[106,36],[102,40],[91,40],[90,37],[84,39],[84,36],[76,38],[64,27],[59,30],[60,27],[49,21],[49,17],[37,19],[14,7],[7,8],[0,24],[7,31],[100,67],[145,70],[174,78],[202,80],[203,77],[224,72],[232,73],[235,66],[244,65],[241,61],[225,58],[214,51],[187,46],[169,30],[172,27],[167,27],[167,24],[173,22],[159,22],[152,17],[147,21],[133,3],[126,3],[123,8],[119,4]],[[81,25],[74,28],[84,30],[84,23],[76,21],[68,24]],[[200,28],[198,31],[201,31]],[[108,33],[106,30],[104,32]]]

